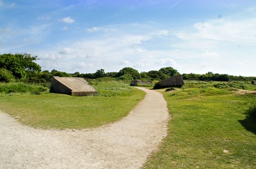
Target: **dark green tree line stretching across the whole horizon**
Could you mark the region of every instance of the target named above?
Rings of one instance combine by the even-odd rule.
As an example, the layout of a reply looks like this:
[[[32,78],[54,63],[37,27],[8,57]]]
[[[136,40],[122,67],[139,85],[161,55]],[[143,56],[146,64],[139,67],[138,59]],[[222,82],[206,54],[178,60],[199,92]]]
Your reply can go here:
[[[31,83],[47,83],[50,82],[52,76],[73,76],[85,79],[99,78],[116,78],[119,80],[163,80],[170,76],[179,75],[178,70],[172,67],[161,68],[159,70],[151,70],[139,73],[138,70],[130,67],[121,69],[118,72],[107,72],[99,69],[95,73],[66,73],[58,70],[43,70],[40,65],[35,63],[38,59],[27,53],[1,54],[0,55],[0,81],[12,82],[17,80],[28,81]],[[206,74],[182,74],[184,80],[200,80],[200,81],[252,81],[256,77],[232,76],[228,74],[214,74],[208,72]]]

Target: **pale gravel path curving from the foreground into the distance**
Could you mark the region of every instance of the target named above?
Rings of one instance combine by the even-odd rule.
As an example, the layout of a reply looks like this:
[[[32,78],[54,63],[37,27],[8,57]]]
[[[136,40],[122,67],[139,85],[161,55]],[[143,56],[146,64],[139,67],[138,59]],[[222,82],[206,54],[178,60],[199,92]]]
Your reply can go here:
[[[166,136],[163,95],[145,88],[121,121],[93,130],[41,130],[0,112],[0,168],[140,168]]]

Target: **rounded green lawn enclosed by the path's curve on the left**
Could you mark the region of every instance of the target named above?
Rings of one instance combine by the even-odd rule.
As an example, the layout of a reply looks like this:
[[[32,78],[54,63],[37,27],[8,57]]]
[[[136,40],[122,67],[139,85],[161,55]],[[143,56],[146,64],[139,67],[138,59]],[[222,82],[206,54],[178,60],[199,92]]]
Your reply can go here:
[[[43,129],[86,129],[110,124],[129,114],[145,95],[121,81],[94,81],[92,85],[99,95],[88,97],[52,94],[45,90],[38,95],[41,86],[27,89],[31,86],[22,83],[2,85],[0,91],[14,85],[16,93],[13,89],[7,91],[8,94],[2,92],[0,110],[24,125]],[[18,90],[22,85],[26,87]]]

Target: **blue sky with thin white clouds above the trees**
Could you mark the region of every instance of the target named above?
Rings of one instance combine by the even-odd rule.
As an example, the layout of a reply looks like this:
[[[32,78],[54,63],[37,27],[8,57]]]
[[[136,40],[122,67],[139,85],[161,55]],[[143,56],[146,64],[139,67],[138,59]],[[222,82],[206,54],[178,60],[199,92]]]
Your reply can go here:
[[[0,53],[67,73],[256,76],[256,1],[0,0]]]

